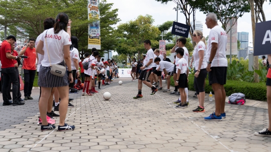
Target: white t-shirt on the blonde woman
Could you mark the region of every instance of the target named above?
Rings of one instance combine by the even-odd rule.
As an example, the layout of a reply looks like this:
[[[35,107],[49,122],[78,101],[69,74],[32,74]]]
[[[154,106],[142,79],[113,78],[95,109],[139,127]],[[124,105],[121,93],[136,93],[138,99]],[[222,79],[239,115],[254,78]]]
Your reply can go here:
[[[207,61],[206,61],[206,56],[205,56],[205,54],[206,54],[206,46],[205,46],[203,41],[200,41],[197,44],[197,46],[194,48],[194,52],[193,52],[194,65],[195,65],[196,70],[199,69],[199,63],[200,63],[199,51],[204,51],[203,63],[202,63],[202,66],[201,66],[201,69],[203,69],[203,68],[206,68],[206,66],[207,66]]]

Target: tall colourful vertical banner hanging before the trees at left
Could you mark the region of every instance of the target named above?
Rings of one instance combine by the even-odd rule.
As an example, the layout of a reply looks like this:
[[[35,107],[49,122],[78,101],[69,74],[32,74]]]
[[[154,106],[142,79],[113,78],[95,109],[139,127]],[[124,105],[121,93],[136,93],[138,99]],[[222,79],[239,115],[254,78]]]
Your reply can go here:
[[[100,0],[88,0],[88,19],[100,19]],[[100,21],[96,20],[88,26],[88,49],[101,50]]]

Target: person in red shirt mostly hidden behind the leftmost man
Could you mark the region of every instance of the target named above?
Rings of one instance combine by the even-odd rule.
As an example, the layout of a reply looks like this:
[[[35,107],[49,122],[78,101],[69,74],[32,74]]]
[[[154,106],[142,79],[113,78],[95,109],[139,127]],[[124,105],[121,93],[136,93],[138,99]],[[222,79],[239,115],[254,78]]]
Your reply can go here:
[[[14,50],[14,48],[15,48],[15,44],[13,43],[12,45],[11,45],[11,55],[12,56],[18,56],[18,53],[17,53],[17,51],[15,51]],[[18,67],[19,67],[19,65],[20,64],[22,64],[20,61],[17,61],[17,60],[13,60],[13,63],[14,63],[14,67],[15,67],[15,69],[16,69],[16,72],[17,72],[17,78],[18,78],[18,94],[17,94],[17,97],[18,97],[18,101],[21,101],[21,102],[24,102],[25,100],[23,100],[21,97],[22,97],[22,94],[21,94],[21,91],[20,91],[20,74],[19,74],[19,70],[18,70]],[[10,101],[10,102],[12,102],[12,98],[11,98],[11,95],[10,95],[10,89],[11,89],[11,81],[9,81],[10,83],[9,83],[9,85],[8,85],[8,88],[7,88],[7,95],[8,95],[8,100]]]

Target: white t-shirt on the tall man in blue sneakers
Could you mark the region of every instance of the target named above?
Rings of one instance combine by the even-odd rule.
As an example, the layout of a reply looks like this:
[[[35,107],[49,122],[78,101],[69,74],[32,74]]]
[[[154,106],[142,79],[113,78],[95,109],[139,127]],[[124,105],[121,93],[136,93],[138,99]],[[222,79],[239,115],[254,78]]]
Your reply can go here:
[[[218,48],[214,59],[211,63],[213,66],[228,66],[228,61],[226,58],[226,49],[227,49],[227,33],[220,26],[215,26],[210,30],[208,38],[208,46],[206,50],[206,60],[209,60],[211,54],[212,43],[217,43]]]

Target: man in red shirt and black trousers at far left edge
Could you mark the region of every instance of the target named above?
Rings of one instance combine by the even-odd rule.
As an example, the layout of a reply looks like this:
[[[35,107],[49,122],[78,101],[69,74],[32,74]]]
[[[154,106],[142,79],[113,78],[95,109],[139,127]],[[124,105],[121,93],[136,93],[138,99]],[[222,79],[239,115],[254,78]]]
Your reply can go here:
[[[3,97],[3,106],[7,105],[24,105],[24,102],[18,101],[18,85],[19,80],[17,77],[17,72],[14,66],[13,60],[21,60],[19,56],[11,55],[11,45],[16,42],[16,38],[13,35],[7,36],[6,40],[4,40],[1,44],[0,51],[0,60],[2,63],[1,73],[3,74],[3,86],[2,86],[2,97]],[[9,82],[12,82],[12,99],[13,103],[8,101],[7,88]]]

